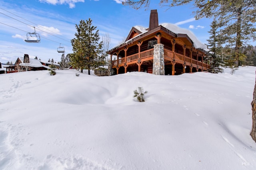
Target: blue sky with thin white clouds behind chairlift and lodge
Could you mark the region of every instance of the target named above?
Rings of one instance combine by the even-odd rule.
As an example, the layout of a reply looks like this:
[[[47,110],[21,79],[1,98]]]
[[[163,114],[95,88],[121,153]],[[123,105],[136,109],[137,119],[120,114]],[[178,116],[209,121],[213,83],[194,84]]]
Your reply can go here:
[[[128,35],[132,26],[148,27],[150,10],[158,10],[158,21],[174,23],[189,29],[202,42],[207,43],[211,19],[194,20],[191,5],[166,8],[151,1],[150,8],[135,10],[123,6],[122,0],[0,0],[0,62],[16,61],[28,54],[43,61],[60,61],[62,53],[57,47],[64,46],[65,54],[72,53],[70,40],[76,33],[75,25],[80,20],[92,19],[92,25],[99,29],[101,37],[106,33],[112,47]],[[8,26],[9,25],[9,26]],[[26,32],[36,32],[41,43],[26,43]],[[40,26],[38,26],[40,25]],[[49,32],[47,34],[37,28]]]

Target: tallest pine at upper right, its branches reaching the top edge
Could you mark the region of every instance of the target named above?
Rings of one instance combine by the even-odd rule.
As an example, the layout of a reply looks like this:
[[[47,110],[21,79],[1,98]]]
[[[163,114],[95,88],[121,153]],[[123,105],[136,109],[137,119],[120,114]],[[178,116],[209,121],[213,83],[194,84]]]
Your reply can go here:
[[[256,39],[256,3],[255,0],[195,0],[198,10],[196,19],[216,17],[222,20],[222,34],[232,51],[235,66],[244,60],[239,49],[250,40]]]

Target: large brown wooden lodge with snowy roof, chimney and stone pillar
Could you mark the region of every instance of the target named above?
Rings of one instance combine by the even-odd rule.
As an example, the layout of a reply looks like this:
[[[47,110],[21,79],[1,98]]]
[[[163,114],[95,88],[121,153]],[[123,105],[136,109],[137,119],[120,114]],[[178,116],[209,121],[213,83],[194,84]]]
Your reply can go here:
[[[111,75],[133,71],[156,75],[206,71],[210,65],[204,60],[204,49],[206,45],[187,29],[170,23],[158,25],[157,10],[151,10],[148,29],[132,27],[125,42],[108,51]]]

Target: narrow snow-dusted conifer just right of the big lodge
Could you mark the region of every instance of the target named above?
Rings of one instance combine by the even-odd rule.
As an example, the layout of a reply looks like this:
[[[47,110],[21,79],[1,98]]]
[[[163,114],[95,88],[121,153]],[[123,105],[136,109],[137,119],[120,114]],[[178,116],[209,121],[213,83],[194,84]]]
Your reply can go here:
[[[209,37],[210,39],[207,40],[208,49],[210,49],[208,52],[208,56],[210,58],[210,69],[208,71],[212,73],[222,73],[223,69],[220,68],[221,66],[224,66],[221,59],[222,37],[218,33],[219,24],[215,19],[212,21],[211,27],[212,29],[208,32],[211,36]]]

